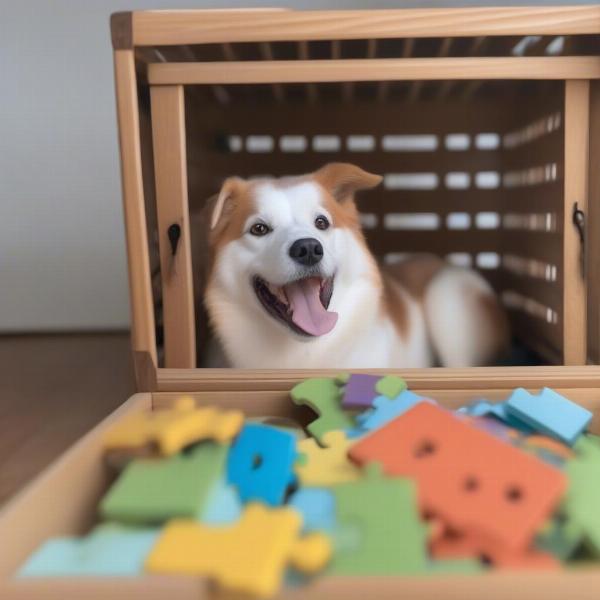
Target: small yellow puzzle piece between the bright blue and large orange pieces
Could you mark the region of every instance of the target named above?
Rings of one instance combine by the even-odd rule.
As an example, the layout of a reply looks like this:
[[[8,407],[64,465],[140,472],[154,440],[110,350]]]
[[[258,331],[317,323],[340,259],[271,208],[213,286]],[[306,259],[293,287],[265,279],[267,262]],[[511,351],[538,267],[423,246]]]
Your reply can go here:
[[[360,479],[360,469],[347,456],[354,442],[343,431],[328,431],[322,441],[325,448],[314,438],[298,442],[298,451],[306,455],[304,463],[295,467],[302,485],[333,485]]]

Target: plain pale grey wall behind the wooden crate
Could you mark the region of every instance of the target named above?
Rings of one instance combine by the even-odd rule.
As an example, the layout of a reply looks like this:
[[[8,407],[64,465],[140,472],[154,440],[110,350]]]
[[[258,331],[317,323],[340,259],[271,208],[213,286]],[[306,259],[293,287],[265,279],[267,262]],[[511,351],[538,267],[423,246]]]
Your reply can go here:
[[[0,0],[0,331],[128,324],[111,12],[408,4],[424,3]]]

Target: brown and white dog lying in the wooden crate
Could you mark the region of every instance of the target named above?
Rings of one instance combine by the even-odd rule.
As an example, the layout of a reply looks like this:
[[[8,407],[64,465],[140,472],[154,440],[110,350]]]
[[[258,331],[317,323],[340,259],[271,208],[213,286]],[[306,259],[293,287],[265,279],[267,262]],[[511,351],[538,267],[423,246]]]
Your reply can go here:
[[[230,366],[467,367],[503,349],[506,318],[476,272],[430,255],[378,266],[354,194],[380,181],[343,163],[225,181],[205,304]]]

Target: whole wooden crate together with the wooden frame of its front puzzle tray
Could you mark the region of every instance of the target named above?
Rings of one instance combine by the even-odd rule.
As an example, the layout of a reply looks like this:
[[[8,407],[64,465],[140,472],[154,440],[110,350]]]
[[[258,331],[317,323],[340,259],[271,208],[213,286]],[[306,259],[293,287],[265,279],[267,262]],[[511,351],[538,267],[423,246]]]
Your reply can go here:
[[[108,422],[169,405],[181,392],[250,415],[294,416],[291,386],[330,372],[197,368],[206,327],[198,310],[203,282],[194,281],[202,253],[194,248],[203,239],[190,222],[228,175],[300,173],[349,160],[386,175],[361,200],[375,254],[393,261],[433,250],[470,261],[497,289],[521,337],[551,363],[404,370],[410,387],[455,407],[549,385],[594,410],[600,431],[600,208],[592,201],[600,193],[598,33],[594,6],[114,15],[140,394]],[[585,215],[583,246],[575,203]],[[415,222],[433,225],[411,230]],[[175,268],[172,224],[182,230]],[[0,539],[10,540],[0,550],[0,597],[210,594],[189,578],[8,581],[41,540],[89,526],[107,484],[106,425],[0,516]],[[600,569],[323,578],[285,596],[591,599],[599,584]]]

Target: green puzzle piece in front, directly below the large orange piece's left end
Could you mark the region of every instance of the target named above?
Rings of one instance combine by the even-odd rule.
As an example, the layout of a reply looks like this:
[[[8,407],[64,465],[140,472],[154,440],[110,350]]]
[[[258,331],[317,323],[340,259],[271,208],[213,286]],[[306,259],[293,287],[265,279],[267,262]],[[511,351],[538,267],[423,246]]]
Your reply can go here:
[[[340,527],[358,535],[354,544],[336,540],[332,573],[393,575],[426,570],[427,528],[419,519],[413,482],[382,477],[379,465],[370,464],[363,479],[331,490]]]

